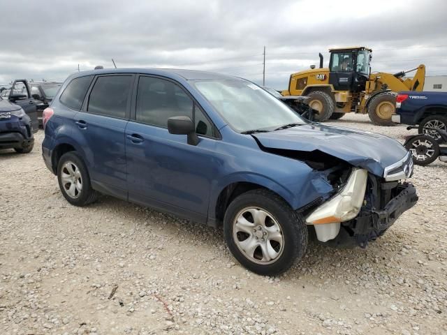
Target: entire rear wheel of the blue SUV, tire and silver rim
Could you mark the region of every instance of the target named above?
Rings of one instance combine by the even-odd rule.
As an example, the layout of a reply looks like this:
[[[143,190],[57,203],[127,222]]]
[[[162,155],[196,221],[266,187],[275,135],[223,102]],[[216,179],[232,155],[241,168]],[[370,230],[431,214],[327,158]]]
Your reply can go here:
[[[98,193],[91,188],[87,167],[75,151],[69,151],[59,159],[57,180],[64,198],[75,206],[91,204],[98,198]]]

